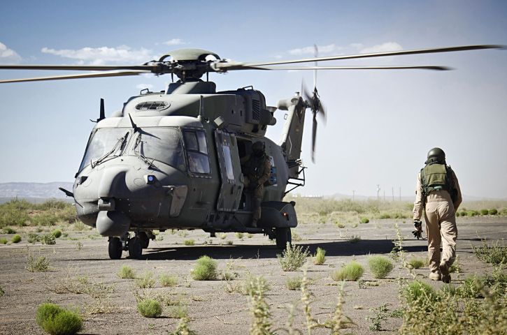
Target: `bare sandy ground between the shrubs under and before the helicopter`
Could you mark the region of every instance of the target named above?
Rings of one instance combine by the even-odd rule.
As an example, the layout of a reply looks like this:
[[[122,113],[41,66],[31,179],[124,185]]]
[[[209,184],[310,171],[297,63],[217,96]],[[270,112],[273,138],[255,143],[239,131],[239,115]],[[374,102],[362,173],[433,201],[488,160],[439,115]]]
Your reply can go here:
[[[311,308],[320,322],[331,318],[336,306],[338,285],[331,280],[330,274],[350,260],[360,262],[366,271],[362,285],[357,282],[345,283],[344,313],[355,325],[344,329],[343,333],[375,334],[369,330],[371,322],[365,320],[373,315],[371,308],[383,304],[387,304],[390,311],[399,308],[397,278],[410,278],[408,271],[401,269],[397,263],[389,278],[376,280],[367,266],[368,255],[387,254],[392,250],[392,239],[396,236],[394,223],[399,223],[401,234],[406,239],[404,248],[408,255],[425,258],[426,241],[413,239],[410,220],[377,220],[359,224],[357,228],[343,229],[331,223],[308,223],[295,228],[301,237],[301,241],[295,244],[308,246],[312,253],[315,253],[317,246],[327,251],[324,265],[313,265],[311,260],[306,263],[311,279],[310,290],[314,295]],[[507,238],[506,225],[507,218],[501,217],[458,218],[458,255],[463,273],[455,274],[453,283],[460,283],[460,279],[468,274],[483,274],[491,270],[475,258],[471,253],[471,245],[480,243],[478,236],[492,240]],[[148,292],[181,300],[191,319],[190,328],[197,334],[248,334],[251,320],[248,297],[239,292],[229,293],[226,286],[239,287],[249,274],[262,275],[271,285],[267,299],[273,314],[273,329],[283,327],[287,322],[289,304],[299,301],[301,306],[301,292],[288,290],[285,282],[289,277],[301,276],[302,270],[282,271],[276,258],[279,251],[267,237],[255,235],[248,238],[244,235],[243,239],[238,239],[229,233],[225,239],[220,239],[220,235],[210,239],[208,234],[201,231],[188,232],[186,237],[180,232],[171,234],[169,231],[160,236],[163,237],[162,241],[152,241],[150,248],[143,251],[143,260],[130,260],[126,252],[121,260],[110,260],[106,239],[94,231],[69,231],[69,237],[57,239],[55,246],[27,244],[26,234],[24,241],[19,244],[0,245],[0,287],[5,291],[5,295],[0,297],[0,334],[42,334],[36,325],[35,313],[38,304],[48,300],[68,308],[80,308],[85,315],[83,334],[166,334],[173,331],[178,324],[177,318],[170,317],[173,306],[164,306],[161,318],[143,318],[138,313],[134,292],[139,289],[134,280],[117,276],[122,265],[132,267],[138,276],[145,271],[152,271],[156,283]],[[361,240],[351,243],[352,236],[359,236]],[[194,239],[195,245],[184,246],[185,239]],[[227,245],[229,240],[233,241],[233,245]],[[82,247],[78,248],[78,244]],[[50,260],[51,271],[27,271],[28,253],[46,256]],[[190,271],[201,255],[215,258],[220,271],[224,271],[229,264],[231,271],[238,273],[238,278],[229,283],[193,281]],[[427,268],[423,268],[415,273],[429,282],[426,279],[427,271]],[[162,273],[177,276],[178,285],[163,288],[158,281]],[[87,306],[94,302],[85,293],[54,292],[66,278],[76,278],[78,275],[87,276],[89,281],[113,290],[108,294],[110,299],[103,300],[110,313],[85,313]],[[431,285],[439,287],[443,284]],[[304,331],[304,315],[301,311],[296,322]],[[382,334],[396,332],[399,325],[400,318],[387,317],[382,322]],[[312,334],[329,334],[329,329],[316,328]]]

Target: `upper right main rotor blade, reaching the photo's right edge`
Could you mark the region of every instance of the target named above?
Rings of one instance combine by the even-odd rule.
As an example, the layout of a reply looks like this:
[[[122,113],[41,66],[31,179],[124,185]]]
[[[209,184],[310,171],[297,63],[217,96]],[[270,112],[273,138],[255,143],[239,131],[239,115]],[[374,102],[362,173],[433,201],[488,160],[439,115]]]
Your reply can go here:
[[[306,59],[293,59],[287,61],[264,61],[255,63],[244,63],[243,66],[266,66],[266,65],[280,65],[280,64],[294,64],[294,63],[307,63],[309,61],[336,61],[338,59],[357,59],[357,58],[370,58],[370,57],[387,57],[387,56],[401,56],[404,54],[432,54],[436,52],[455,52],[455,51],[466,51],[466,50],[481,50],[481,49],[506,49],[505,45],[462,45],[458,47],[435,47],[429,49],[419,50],[400,50],[390,52],[375,52],[371,54],[350,54],[341,56],[329,56],[329,57],[314,57]],[[235,66],[238,66],[237,64]],[[228,68],[227,63],[217,64],[217,68]]]

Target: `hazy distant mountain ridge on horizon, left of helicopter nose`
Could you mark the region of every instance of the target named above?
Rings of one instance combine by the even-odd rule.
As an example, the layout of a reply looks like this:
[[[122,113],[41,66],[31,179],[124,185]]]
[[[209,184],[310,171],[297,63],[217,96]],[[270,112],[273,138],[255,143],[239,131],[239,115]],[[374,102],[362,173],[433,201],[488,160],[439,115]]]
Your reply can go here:
[[[72,191],[73,183],[55,181],[52,183],[0,183],[0,198],[57,198],[66,195],[58,188]]]

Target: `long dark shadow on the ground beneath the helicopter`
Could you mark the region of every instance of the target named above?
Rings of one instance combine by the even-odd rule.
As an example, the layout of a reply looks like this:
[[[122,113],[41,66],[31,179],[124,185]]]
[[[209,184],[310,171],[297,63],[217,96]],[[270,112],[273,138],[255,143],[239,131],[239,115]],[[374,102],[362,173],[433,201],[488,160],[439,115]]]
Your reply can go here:
[[[317,247],[323,248],[328,256],[369,255],[373,253],[390,253],[394,244],[390,240],[361,240],[357,243],[350,241],[324,241],[320,243],[297,244],[308,248],[314,254]],[[407,252],[427,251],[427,246],[404,246]],[[143,260],[197,260],[207,255],[217,260],[230,258],[266,259],[277,258],[283,251],[275,245],[238,245],[238,246],[173,246],[169,248],[148,248],[143,252]]]

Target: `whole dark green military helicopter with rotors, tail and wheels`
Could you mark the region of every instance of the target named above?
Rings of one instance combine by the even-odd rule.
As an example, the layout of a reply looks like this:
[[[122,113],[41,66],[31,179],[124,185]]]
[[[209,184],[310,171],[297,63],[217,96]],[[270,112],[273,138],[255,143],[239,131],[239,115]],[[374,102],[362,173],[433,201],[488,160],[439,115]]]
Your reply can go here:
[[[456,52],[502,48],[501,45],[467,45],[424,50],[402,50],[348,56],[313,57],[288,61],[240,63],[220,59],[214,52],[180,49],[158,61],[136,66],[2,65],[0,69],[92,70],[95,73],[34,77],[7,82],[117,77],[152,73],[176,75],[167,89],[145,89],[124,103],[122,110],[106,117],[101,99],[99,118],[87,142],[73,190],[60,188],[74,199],[78,218],[108,237],[111,259],[128,251],[141,258],[154,239],[153,230],[201,229],[217,232],[266,234],[278,248],[291,241],[297,226],[294,202],[285,195],[305,184],[301,140],[305,113],[313,113],[312,158],[315,151],[317,114],[325,115],[316,84],[295,96],[266,105],[261,91],[243,87],[217,91],[209,73],[232,70],[345,70],[426,69],[444,66],[317,66],[317,61]],[[285,66],[315,62],[315,66]],[[206,80],[201,79],[206,75]],[[275,111],[286,112],[279,144],[265,136],[276,124]],[[264,188],[262,216],[252,221],[252,193],[243,187],[241,162],[261,141],[271,161]]]

